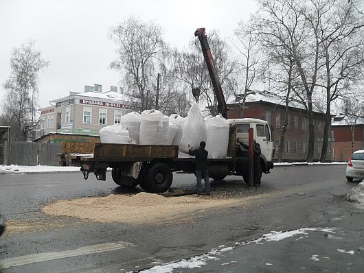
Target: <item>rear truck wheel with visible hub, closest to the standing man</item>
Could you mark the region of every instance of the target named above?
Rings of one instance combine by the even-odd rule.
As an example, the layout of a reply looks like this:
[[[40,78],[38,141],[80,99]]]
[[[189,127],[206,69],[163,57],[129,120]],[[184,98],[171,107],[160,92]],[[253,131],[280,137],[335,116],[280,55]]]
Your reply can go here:
[[[148,193],[163,193],[172,185],[173,175],[166,163],[150,165],[143,174],[140,187]]]

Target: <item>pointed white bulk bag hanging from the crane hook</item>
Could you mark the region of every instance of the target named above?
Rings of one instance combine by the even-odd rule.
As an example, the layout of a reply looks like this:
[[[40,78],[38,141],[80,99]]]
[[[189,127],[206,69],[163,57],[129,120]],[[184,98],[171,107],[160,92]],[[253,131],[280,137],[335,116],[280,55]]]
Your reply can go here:
[[[198,107],[198,104],[194,102],[183,123],[179,151],[188,154],[188,144],[190,144],[193,147],[192,150],[194,150],[200,147],[201,141],[206,142],[206,126],[200,108]]]

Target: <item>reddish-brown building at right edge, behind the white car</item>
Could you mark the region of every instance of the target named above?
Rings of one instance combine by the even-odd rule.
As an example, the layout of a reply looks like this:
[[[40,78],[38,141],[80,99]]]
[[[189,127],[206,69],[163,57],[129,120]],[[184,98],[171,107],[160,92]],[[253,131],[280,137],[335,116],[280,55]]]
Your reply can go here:
[[[354,151],[364,149],[364,118],[354,120],[345,115],[332,117],[331,131],[334,161],[347,161],[350,158],[353,133]]]

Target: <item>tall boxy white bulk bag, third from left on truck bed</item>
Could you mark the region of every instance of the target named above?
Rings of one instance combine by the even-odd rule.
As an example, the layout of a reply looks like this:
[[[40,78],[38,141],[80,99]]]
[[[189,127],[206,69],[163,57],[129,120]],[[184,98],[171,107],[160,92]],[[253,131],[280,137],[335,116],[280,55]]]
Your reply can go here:
[[[139,144],[166,145],[168,143],[168,117],[155,109],[141,112]]]

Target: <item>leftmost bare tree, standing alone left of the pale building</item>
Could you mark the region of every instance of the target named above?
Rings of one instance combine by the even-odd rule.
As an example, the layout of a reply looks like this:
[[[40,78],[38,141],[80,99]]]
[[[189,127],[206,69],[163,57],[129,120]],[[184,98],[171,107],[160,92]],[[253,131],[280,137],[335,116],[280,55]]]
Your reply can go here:
[[[24,141],[38,122],[38,73],[48,65],[49,62],[41,57],[41,51],[34,49],[33,41],[13,49],[10,57],[11,73],[3,84],[7,91],[4,107],[10,120],[21,128]]]

